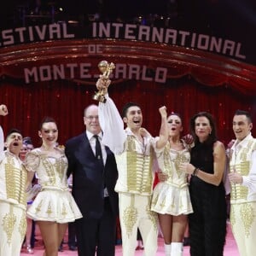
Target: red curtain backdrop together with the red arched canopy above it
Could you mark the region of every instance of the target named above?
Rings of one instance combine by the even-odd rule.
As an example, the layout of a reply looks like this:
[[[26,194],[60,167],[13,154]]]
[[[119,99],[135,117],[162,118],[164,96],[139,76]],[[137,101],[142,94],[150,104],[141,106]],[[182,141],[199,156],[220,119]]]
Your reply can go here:
[[[90,55],[88,45],[100,44],[102,53]],[[0,104],[9,108],[0,117],[5,132],[16,127],[32,137],[38,146],[38,126],[44,116],[56,119],[59,143],[84,131],[84,108],[92,100],[96,78],[58,79],[25,83],[25,67],[89,62],[94,74],[97,63],[109,62],[166,67],[165,83],[139,79],[113,79],[109,94],[119,110],[126,102],[137,102],[143,109],[143,125],[153,136],[160,128],[158,108],[183,117],[184,134],[189,119],[208,111],[216,119],[219,139],[227,144],[234,137],[232,118],[236,109],[253,114],[256,125],[256,67],[219,55],[172,45],[118,40],[70,40],[17,45],[0,49]],[[253,131],[255,136],[255,129]]]

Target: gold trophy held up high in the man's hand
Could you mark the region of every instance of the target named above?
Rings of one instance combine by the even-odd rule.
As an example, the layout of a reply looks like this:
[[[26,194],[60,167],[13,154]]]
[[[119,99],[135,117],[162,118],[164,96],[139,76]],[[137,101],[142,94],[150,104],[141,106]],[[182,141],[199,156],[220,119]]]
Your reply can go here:
[[[100,72],[102,73],[101,78],[104,81],[107,81],[109,78],[109,75],[113,72],[113,69],[115,68],[113,62],[108,63],[108,61],[101,61],[98,64],[98,68],[100,70]],[[98,102],[106,102],[106,98],[104,96],[104,89],[102,90],[98,90],[94,96],[92,96],[92,98]]]

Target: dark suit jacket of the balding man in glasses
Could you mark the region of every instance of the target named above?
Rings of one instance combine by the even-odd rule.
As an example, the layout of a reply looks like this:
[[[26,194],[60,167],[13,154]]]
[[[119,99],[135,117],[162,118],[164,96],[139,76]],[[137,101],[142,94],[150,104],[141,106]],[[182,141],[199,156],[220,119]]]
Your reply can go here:
[[[86,132],[69,139],[65,146],[67,177],[73,173],[73,197],[84,218],[101,218],[104,184],[108,189],[113,214],[118,214],[118,194],[114,191],[118,171],[113,153],[106,148],[107,160],[102,173]]]

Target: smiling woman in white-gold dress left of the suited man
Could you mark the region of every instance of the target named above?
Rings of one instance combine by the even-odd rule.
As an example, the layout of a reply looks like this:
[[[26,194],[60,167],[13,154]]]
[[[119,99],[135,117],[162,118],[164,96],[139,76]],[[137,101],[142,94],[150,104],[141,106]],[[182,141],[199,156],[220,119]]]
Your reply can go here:
[[[42,189],[26,214],[39,226],[44,240],[44,256],[56,256],[68,222],[82,218],[82,214],[68,189],[67,157],[62,148],[56,147],[58,129],[55,120],[45,118],[38,136],[42,138],[42,145],[26,154],[24,165],[28,181],[32,181],[36,172]]]

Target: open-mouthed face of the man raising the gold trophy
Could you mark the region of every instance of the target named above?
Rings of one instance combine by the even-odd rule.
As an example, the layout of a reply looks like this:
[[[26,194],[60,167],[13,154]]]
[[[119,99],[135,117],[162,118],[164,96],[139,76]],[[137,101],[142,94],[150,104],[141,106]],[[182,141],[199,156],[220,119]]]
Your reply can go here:
[[[137,106],[128,108],[123,120],[131,131],[138,131],[143,125],[143,113],[141,108]]]

